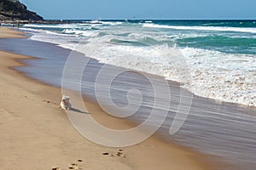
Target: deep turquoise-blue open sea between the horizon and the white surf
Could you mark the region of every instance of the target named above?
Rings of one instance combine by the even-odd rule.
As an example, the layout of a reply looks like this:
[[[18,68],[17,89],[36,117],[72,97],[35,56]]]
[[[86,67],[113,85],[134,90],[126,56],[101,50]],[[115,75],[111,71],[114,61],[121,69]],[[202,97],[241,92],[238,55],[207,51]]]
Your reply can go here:
[[[82,21],[83,22],[83,21]],[[84,21],[86,22],[86,21]],[[75,34],[86,37],[85,31],[98,32],[102,29],[126,26],[127,28],[152,27],[169,36],[170,41],[180,47],[212,49],[226,53],[256,54],[256,21],[173,21],[173,20],[134,20],[98,21],[95,24],[69,25],[25,25],[26,28],[54,31],[61,34]],[[92,22],[93,23],[93,22]],[[99,24],[102,23],[102,24]],[[170,26],[170,27],[169,27]],[[132,30],[131,30],[132,32]],[[124,34],[123,36],[128,36]],[[103,34],[102,34],[103,36]],[[173,36],[173,37],[172,37]],[[163,41],[164,42],[164,41]],[[161,41],[159,41],[161,43]]]

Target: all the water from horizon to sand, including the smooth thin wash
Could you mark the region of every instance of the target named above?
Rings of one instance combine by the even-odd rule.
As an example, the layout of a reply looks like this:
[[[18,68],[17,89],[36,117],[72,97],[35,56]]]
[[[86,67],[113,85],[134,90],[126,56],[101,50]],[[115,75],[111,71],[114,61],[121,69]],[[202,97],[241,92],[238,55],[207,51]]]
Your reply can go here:
[[[155,110],[149,124],[152,127],[161,122],[161,115],[167,111],[158,134],[231,165],[224,168],[216,164],[212,169],[253,170],[256,107],[244,107],[255,106],[253,26],[253,21],[160,20],[25,25],[21,29],[32,33],[32,37],[0,40],[0,48],[37,56],[39,59],[25,61],[29,66],[17,69],[58,87],[68,55],[76,61],[74,72],[78,71],[80,60],[88,60],[81,82],[80,77],[73,76],[67,82],[81,83],[85,96],[100,101],[102,109],[107,106],[110,113],[119,112],[121,116],[128,112],[133,114],[129,118],[139,123]],[[71,54],[69,49],[73,50]],[[152,75],[145,76],[140,71]],[[177,82],[166,87],[154,75],[183,82],[181,85],[192,93],[211,99],[187,93]],[[109,80],[113,82],[109,84]],[[109,87],[110,96],[103,94]],[[183,116],[186,108],[186,121],[171,135],[174,117]]]

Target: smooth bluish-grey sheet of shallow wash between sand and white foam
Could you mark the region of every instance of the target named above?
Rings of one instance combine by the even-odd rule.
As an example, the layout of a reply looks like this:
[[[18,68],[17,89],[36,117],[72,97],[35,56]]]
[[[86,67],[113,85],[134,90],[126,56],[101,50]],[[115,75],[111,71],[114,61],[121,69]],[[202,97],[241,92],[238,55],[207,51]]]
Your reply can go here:
[[[57,47],[53,44],[45,42],[37,42],[29,39],[1,39],[0,49],[17,53],[37,56],[39,59],[25,60],[29,66],[17,68],[17,70],[25,72],[29,77],[38,79],[39,81],[61,87],[61,76],[65,61],[70,54],[70,50]],[[84,57],[83,54],[75,53],[73,56]],[[181,90],[177,82],[168,82],[170,95],[163,94],[161,90],[166,88],[165,81],[162,77],[153,75],[143,75],[137,71],[131,71],[113,65],[104,65],[98,63],[95,59],[87,58],[82,89],[85,96],[91,99],[102,98],[101,95],[96,96],[96,88],[104,92],[108,88],[108,78],[113,73],[118,72],[119,75],[113,79],[110,84],[110,98],[118,107],[128,105],[129,99],[127,92],[129,89],[136,88],[140,91],[142,100],[139,109],[130,118],[137,122],[144,122],[149,116],[150,111],[155,107],[157,100],[158,107],[156,111],[165,112],[166,101],[168,103],[168,116],[166,121],[160,127],[158,133],[165,136],[166,139],[175,139],[178,144],[189,146],[194,150],[200,150],[213,156],[224,157],[222,161],[231,164],[230,169],[255,169],[256,168],[256,109],[255,107],[244,107],[230,103],[218,103],[212,99],[205,99],[187,91]],[[102,69],[104,68],[104,71]],[[76,68],[74,68],[76,69]],[[101,72],[102,71],[102,72]],[[105,79],[97,80],[101,73]],[[79,77],[71,77],[70,81]],[[151,82],[150,82],[151,81]],[[153,84],[157,84],[155,89]],[[72,88],[72,87],[71,87]],[[137,96],[138,91],[133,91],[131,96]],[[155,97],[155,92],[159,92]],[[182,93],[185,93],[181,96]],[[188,93],[188,94],[187,94]],[[189,116],[184,122],[181,129],[174,135],[170,135],[169,130],[173,122],[173,117],[177,114],[178,106],[184,97],[191,97],[191,108],[189,108]],[[189,99],[190,100],[190,99]],[[132,102],[131,102],[132,103]],[[107,101],[102,105],[110,105]],[[183,106],[189,107],[189,102],[185,102]],[[137,108],[137,105],[131,105],[131,110]],[[155,116],[155,115],[154,115]],[[150,126],[160,121],[162,114],[154,117],[155,122],[151,122]],[[213,167],[213,169],[221,167]]]

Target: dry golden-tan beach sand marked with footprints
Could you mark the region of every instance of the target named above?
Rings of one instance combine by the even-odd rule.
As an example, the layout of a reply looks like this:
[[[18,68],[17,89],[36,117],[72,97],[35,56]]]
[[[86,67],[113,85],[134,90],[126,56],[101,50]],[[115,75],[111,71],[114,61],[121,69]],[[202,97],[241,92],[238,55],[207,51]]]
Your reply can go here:
[[[22,37],[0,28],[0,37]],[[81,136],[58,105],[61,89],[34,81],[12,67],[27,56],[0,52],[0,169],[209,169],[201,155],[151,137],[126,148],[108,148]],[[89,103],[90,113],[101,120],[104,112]],[[102,118],[103,119],[103,118]],[[105,118],[104,118],[105,119]],[[107,121],[102,123],[108,124]],[[115,119],[109,119],[109,124]],[[115,122],[116,127],[130,126]],[[117,156],[122,149],[125,157]],[[110,155],[102,155],[108,152]],[[81,161],[78,161],[81,159]],[[72,168],[72,167],[70,167]]]

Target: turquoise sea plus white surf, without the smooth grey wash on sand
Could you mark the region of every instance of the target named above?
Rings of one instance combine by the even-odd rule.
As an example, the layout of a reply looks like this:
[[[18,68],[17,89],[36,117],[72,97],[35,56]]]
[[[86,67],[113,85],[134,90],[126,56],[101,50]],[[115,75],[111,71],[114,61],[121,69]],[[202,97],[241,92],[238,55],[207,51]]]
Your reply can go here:
[[[184,88],[202,97],[256,105],[253,20],[79,20],[26,24],[21,29],[32,31],[32,40],[77,50],[105,64],[183,82]],[[179,50],[186,73],[173,61],[173,48]]]

